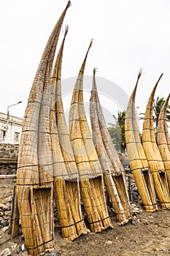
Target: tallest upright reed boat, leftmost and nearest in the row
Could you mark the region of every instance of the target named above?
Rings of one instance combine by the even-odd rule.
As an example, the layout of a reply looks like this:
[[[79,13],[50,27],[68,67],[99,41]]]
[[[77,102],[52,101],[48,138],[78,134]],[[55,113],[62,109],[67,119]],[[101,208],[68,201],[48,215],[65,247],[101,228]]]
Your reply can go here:
[[[31,255],[53,250],[53,159],[50,140],[51,72],[66,5],[42,54],[23,120],[17,171],[20,221]]]

